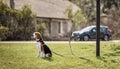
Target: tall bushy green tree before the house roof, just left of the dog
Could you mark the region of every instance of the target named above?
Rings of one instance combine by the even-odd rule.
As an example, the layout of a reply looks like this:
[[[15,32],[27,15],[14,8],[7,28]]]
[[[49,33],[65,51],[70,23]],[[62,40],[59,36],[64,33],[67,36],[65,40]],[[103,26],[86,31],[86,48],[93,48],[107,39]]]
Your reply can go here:
[[[31,34],[34,31],[34,23],[33,20],[35,18],[35,14],[32,13],[29,5],[23,6],[22,10],[15,12],[15,18],[18,22],[18,31],[20,36],[19,39],[28,40],[31,37]],[[24,36],[24,37],[23,37]]]

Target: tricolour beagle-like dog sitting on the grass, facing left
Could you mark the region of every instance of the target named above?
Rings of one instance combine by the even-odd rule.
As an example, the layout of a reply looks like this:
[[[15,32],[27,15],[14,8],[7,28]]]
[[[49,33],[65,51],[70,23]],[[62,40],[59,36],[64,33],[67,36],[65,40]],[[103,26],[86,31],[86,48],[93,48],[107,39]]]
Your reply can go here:
[[[33,38],[36,39],[36,46],[38,48],[38,58],[39,57],[52,57],[52,52],[50,48],[45,44],[40,32],[34,32]]]

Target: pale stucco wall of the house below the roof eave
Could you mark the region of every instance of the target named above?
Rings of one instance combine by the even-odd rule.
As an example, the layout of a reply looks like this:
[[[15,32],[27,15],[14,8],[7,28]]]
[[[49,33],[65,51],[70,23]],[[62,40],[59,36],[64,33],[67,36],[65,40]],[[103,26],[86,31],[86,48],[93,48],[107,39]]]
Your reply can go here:
[[[72,27],[72,23],[65,19],[37,18],[36,22],[37,26],[41,23],[46,24],[44,35],[48,37],[65,37],[71,31]]]

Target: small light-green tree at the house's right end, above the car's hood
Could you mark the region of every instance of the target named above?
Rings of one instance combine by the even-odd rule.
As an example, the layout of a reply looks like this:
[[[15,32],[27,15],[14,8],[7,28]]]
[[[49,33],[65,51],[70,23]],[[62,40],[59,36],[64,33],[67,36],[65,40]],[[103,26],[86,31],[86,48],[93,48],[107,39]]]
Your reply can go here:
[[[71,20],[71,22],[73,23],[73,26],[72,26],[72,29],[71,29],[71,32],[73,30],[75,30],[75,27],[78,25],[78,24],[81,24],[81,23],[86,23],[87,20],[84,16],[84,14],[82,13],[82,11],[80,9],[78,9],[76,12],[73,12],[72,11],[72,6],[69,6],[66,11],[65,11],[65,14],[68,16],[68,18]]]

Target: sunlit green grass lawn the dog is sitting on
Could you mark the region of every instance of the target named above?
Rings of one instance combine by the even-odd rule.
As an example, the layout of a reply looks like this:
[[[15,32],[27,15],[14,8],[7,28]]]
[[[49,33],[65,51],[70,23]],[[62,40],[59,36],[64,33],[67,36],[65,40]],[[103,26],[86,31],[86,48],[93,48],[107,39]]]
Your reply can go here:
[[[119,69],[120,43],[101,43],[101,57],[96,57],[95,44],[47,44],[51,59],[36,58],[33,43],[0,43],[0,69]]]

